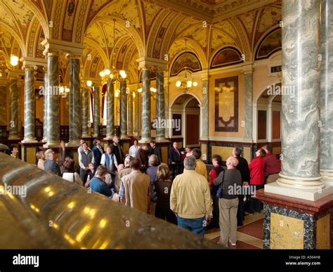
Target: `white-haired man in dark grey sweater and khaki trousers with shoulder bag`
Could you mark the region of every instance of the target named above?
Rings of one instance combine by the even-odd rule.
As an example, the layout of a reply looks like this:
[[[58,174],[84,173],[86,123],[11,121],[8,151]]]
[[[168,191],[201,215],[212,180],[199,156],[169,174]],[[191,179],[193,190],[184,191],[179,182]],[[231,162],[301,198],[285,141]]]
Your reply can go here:
[[[242,191],[242,175],[236,169],[238,160],[235,157],[229,157],[227,167],[216,179],[214,185],[219,186],[222,183],[222,197],[218,200],[220,209],[220,230],[221,236],[219,243],[228,247],[228,238],[230,244],[236,245],[237,232],[237,207],[238,192]]]

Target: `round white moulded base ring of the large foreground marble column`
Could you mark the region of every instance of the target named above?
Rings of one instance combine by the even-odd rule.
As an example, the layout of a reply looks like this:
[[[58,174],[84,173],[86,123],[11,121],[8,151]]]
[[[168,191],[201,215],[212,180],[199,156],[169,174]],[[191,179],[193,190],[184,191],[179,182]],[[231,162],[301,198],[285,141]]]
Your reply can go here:
[[[321,176],[315,178],[301,178],[296,176],[286,176],[282,173],[280,173],[279,176],[280,178],[276,183],[283,187],[301,190],[318,190],[318,188],[325,187],[325,184],[320,181],[322,178]]]

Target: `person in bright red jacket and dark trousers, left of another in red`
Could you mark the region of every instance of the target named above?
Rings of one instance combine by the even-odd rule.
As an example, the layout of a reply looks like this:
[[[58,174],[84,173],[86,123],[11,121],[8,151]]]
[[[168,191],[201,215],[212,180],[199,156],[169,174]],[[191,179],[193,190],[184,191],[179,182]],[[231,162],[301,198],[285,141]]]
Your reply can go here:
[[[254,187],[251,188],[251,192],[262,189],[265,184],[265,161],[263,160],[265,154],[265,150],[259,148],[256,151],[256,157],[249,164],[250,186]],[[249,214],[254,212],[261,212],[261,202],[254,198],[254,195],[251,195],[249,197]]]

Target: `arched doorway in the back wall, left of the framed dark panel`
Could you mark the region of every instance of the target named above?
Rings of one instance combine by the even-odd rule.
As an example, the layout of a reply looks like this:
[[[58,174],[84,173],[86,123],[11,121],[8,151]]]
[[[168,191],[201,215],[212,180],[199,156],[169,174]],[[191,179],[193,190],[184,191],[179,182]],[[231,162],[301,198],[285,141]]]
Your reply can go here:
[[[169,129],[171,138],[183,138],[183,146],[199,147],[200,140],[200,101],[192,93],[183,93],[174,99],[169,110],[169,119],[174,126]]]

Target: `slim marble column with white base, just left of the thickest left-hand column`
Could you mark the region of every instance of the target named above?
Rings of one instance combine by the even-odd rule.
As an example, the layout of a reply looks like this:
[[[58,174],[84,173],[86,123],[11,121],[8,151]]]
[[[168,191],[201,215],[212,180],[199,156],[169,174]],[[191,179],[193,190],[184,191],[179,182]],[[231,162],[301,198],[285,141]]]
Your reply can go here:
[[[34,67],[25,66],[25,137],[22,143],[37,143],[34,115]]]

